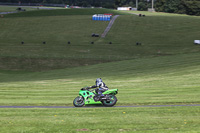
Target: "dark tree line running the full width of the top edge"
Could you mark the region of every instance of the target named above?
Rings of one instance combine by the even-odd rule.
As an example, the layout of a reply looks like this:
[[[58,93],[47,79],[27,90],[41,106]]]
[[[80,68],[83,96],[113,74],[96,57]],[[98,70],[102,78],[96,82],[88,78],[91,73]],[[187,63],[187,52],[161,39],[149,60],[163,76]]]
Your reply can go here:
[[[136,0],[0,0],[10,3],[65,4],[82,7],[117,8],[122,6],[136,7]],[[138,10],[151,8],[152,0],[137,0]],[[199,0],[154,0],[154,8],[158,12],[179,13],[200,16]]]

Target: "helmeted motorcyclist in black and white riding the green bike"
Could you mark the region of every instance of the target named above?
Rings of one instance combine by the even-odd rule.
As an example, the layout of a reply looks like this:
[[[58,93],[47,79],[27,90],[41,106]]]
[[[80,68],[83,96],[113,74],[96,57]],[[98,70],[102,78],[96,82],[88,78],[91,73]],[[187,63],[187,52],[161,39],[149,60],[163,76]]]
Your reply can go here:
[[[104,95],[102,93],[108,90],[108,86],[106,86],[106,84],[102,81],[101,78],[97,78],[95,85],[87,87],[87,88],[90,89],[90,88],[97,88],[97,87],[99,87],[98,90],[96,91],[98,93],[98,96],[103,97]]]

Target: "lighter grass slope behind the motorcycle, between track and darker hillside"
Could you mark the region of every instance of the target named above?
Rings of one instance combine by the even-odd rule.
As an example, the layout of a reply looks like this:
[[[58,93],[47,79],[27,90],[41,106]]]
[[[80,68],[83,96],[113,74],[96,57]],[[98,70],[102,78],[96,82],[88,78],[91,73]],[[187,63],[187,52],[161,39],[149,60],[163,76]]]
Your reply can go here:
[[[45,72],[1,71],[0,105],[66,105],[101,77],[117,105],[199,104],[199,54],[163,56]]]

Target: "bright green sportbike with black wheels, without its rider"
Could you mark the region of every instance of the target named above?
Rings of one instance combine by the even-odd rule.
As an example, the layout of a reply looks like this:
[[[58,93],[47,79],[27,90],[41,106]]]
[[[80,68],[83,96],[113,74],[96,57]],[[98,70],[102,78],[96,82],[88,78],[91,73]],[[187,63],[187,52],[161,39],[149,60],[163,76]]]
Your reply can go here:
[[[79,91],[79,96],[74,99],[73,104],[75,107],[82,107],[89,104],[103,104],[104,106],[111,107],[117,103],[117,97],[115,96],[117,93],[118,89],[109,89],[102,93],[104,96],[99,96],[98,88],[82,88]]]

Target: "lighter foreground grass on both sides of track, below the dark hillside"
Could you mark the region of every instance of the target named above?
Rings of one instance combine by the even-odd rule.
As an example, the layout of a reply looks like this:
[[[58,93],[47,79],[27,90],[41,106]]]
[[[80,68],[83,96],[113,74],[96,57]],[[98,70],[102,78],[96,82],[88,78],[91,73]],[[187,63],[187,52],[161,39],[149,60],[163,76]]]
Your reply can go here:
[[[96,77],[119,89],[117,106],[199,104],[199,57],[195,53],[46,72],[0,71],[0,105],[72,106],[79,89],[93,85]],[[200,124],[199,107],[190,106],[0,111],[2,132],[198,132]]]

